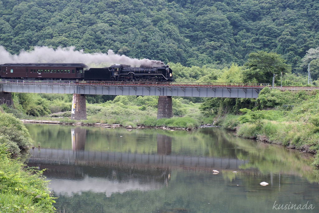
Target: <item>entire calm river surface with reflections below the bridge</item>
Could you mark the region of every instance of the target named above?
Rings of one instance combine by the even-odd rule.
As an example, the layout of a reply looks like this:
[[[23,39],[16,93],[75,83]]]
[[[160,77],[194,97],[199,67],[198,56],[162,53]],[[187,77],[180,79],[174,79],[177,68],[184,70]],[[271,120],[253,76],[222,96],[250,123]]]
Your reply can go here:
[[[26,127],[61,212],[319,212],[312,156],[219,128]]]

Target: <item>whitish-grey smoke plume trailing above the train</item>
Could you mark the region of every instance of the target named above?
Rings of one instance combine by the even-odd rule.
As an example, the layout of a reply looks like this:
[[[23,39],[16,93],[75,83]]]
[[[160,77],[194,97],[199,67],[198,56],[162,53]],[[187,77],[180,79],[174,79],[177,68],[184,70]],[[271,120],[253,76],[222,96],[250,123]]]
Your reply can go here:
[[[3,46],[0,46],[0,64],[5,63],[84,63],[84,64],[126,64],[131,66],[161,67],[161,61],[150,59],[130,58],[125,55],[118,55],[109,49],[108,54],[84,53],[83,50],[75,50],[75,47],[56,50],[49,47],[34,47],[32,51],[21,50],[19,55],[11,55]]]

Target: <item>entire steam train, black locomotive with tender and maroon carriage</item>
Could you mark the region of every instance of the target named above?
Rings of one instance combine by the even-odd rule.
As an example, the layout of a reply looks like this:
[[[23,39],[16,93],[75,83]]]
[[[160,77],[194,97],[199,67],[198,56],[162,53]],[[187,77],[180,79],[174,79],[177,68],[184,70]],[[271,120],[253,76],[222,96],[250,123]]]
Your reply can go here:
[[[0,65],[1,79],[19,80],[98,80],[98,81],[172,81],[169,65],[131,67],[112,65],[90,68],[82,63],[28,63]]]

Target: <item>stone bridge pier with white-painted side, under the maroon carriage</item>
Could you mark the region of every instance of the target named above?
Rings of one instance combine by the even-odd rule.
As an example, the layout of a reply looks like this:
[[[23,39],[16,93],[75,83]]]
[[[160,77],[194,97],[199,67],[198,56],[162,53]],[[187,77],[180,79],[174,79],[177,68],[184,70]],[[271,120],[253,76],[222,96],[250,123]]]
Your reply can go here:
[[[86,120],[86,102],[85,95],[73,94],[71,119]]]

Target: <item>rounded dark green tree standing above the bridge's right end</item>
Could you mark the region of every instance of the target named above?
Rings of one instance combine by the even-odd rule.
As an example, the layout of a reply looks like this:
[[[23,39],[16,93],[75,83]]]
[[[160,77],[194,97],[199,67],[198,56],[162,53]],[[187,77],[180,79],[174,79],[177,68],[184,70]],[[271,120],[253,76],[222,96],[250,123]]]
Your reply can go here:
[[[252,52],[245,65],[248,69],[242,73],[244,82],[272,83],[274,74],[280,76],[281,72],[283,75],[291,72],[291,67],[285,60],[272,52]],[[278,80],[280,79],[275,78],[275,82]]]

